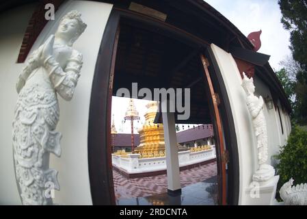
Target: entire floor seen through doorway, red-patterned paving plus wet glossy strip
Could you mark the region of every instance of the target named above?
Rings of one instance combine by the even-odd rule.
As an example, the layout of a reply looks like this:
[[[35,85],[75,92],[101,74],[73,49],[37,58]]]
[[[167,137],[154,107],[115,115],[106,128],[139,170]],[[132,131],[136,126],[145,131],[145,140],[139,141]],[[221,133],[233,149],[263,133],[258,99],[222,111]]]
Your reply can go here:
[[[166,175],[126,179],[114,170],[118,205],[215,205],[216,162],[181,171],[181,194],[170,196]]]

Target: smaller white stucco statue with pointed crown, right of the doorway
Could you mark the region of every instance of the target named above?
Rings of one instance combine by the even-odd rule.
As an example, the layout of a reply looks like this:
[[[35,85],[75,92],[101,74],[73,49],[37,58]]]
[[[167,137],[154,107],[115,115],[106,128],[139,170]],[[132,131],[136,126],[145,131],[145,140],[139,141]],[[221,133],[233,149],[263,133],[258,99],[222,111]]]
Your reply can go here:
[[[242,87],[247,94],[246,104],[248,110],[252,116],[252,124],[257,140],[257,152],[258,152],[258,170],[254,173],[253,181],[268,181],[275,175],[274,168],[265,164],[267,162],[267,124],[265,121],[265,115],[263,114],[263,97],[255,96],[254,79],[250,79],[243,73]]]

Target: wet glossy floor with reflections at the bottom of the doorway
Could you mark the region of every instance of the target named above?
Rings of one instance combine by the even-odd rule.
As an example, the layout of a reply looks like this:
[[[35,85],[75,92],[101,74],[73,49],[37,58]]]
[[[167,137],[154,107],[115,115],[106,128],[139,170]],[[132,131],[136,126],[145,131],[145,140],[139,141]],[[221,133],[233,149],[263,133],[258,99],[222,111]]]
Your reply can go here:
[[[181,194],[167,192],[146,197],[120,198],[117,205],[217,205],[217,176],[182,188]]]

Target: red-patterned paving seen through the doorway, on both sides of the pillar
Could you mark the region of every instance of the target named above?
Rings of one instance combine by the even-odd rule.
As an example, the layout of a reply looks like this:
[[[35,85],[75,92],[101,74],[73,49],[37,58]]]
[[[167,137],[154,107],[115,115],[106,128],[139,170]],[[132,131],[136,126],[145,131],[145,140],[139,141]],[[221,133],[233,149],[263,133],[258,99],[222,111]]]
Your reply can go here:
[[[180,174],[181,187],[184,188],[187,185],[199,183],[216,175],[216,162],[188,170],[182,170]],[[168,190],[166,175],[126,179],[120,175],[120,173],[116,172],[116,170],[113,170],[113,177],[116,199],[152,196],[165,193]]]

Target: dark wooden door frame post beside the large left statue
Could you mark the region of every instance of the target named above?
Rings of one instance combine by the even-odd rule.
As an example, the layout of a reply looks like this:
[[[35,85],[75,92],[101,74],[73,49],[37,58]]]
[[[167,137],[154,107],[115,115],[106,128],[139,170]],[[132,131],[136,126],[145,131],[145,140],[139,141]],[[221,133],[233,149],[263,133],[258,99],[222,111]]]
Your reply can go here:
[[[96,61],[88,123],[88,166],[93,205],[115,205],[111,164],[111,98],[114,49],[120,21],[111,11]],[[111,81],[111,84],[110,84]],[[111,85],[111,86],[110,86]]]

